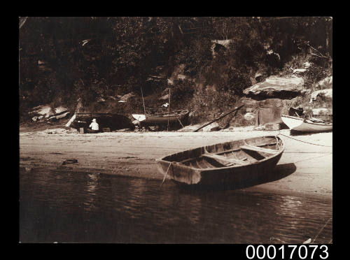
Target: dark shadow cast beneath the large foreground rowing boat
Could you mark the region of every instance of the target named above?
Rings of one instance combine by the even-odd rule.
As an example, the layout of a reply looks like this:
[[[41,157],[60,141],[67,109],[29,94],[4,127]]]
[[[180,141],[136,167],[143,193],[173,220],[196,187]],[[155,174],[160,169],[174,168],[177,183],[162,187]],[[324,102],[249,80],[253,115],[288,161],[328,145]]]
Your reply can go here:
[[[251,182],[238,182],[235,184],[221,184],[221,185],[178,185],[181,192],[218,192],[225,190],[244,189],[255,185],[261,185],[267,182],[274,182],[286,178],[288,175],[294,173],[297,167],[295,164],[279,164],[274,167],[272,171],[265,174],[259,180],[252,180]]]

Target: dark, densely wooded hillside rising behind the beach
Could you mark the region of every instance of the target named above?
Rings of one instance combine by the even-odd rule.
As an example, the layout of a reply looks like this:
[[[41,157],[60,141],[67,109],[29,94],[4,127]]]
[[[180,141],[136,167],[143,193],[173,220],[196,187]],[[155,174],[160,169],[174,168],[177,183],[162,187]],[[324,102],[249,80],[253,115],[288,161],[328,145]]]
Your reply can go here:
[[[311,62],[305,87],[331,74],[330,17],[20,17],[20,120],[34,106],[141,113],[172,109],[203,119],[269,75]],[[310,50],[315,50],[310,52]],[[181,77],[179,77],[181,75]],[[97,99],[134,92],[128,103]],[[163,93],[162,93],[163,92]]]

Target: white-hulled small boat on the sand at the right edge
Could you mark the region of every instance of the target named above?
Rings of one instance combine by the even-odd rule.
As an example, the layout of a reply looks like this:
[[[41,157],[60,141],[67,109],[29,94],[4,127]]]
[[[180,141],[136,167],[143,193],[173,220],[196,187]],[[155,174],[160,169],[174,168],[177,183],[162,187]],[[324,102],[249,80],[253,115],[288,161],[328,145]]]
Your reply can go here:
[[[323,120],[306,120],[301,117],[293,117],[290,115],[281,115],[281,120],[286,124],[290,130],[300,132],[325,132],[331,131],[333,124],[331,121],[325,122]]]

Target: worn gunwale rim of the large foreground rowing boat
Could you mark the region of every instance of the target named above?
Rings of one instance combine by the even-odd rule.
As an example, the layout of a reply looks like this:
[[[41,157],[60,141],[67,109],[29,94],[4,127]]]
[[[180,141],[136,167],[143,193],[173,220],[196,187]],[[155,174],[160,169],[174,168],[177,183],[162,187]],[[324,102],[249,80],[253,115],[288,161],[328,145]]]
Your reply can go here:
[[[272,155],[269,156],[269,157],[265,157],[265,159],[262,159],[262,160],[260,160],[260,161],[254,161],[254,162],[251,163],[251,164],[237,164],[237,165],[232,165],[232,166],[215,167],[215,168],[194,168],[194,167],[187,166],[187,165],[185,165],[185,164],[181,164],[181,162],[179,162],[179,161],[166,161],[166,160],[164,159],[165,157],[174,155],[174,153],[168,154],[168,155],[166,155],[165,157],[162,157],[162,158],[160,158],[160,159],[156,159],[155,161],[156,161],[157,163],[160,162],[160,161],[163,161],[163,162],[165,162],[165,163],[167,163],[167,164],[180,164],[180,165],[183,166],[183,167],[190,168],[190,169],[192,169],[192,170],[194,170],[194,171],[200,171],[200,172],[202,173],[202,172],[204,172],[204,171],[225,170],[225,169],[228,169],[228,168],[241,168],[241,167],[247,167],[247,166],[251,166],[251,165],[255,165],[255,164],[260,164],[260,163],[262,163],[262,162],[264,162],[264,161],[268,161],[268,160],[270,160],[270,159],[273,159],[274,157],[277,157],[277,156],[279,156],[279,154],[281,154],[281,153],[284,152],[286,146],[284,145],[283,140],[282,140],[281,138],[279,138],[279,136],[259,136],[259,137],[274,137],[274,138],[278,138],[279,140],[281,140],[281,144],[282,144],[282,145],[280,146],[280,148],[279,148],[279,150],[278,150],[279,152],[276,152],[276,154],[272,154]],[[250,138],[246,138],[246,139],[250,139]],[[239,140],[246,140],[246,139],[239,139]],[[238,140],[232,140],[232,141],[238,141]],[[232,141],[230,141],[230,142],[232,142]],[[225,142],[225,143],[226,143],[226,142]],[[219,143],[215,143],[215,144],[213,144],[213,145],[217,145],[217,144],[219,144]],[[211,146],[211,145],[205,145],[205,146],[201,146],[201,147],[197,147],[197,148],[208,147],[208,146]],[[197,148],[195,148],[195,149],[197,149]],[[186,152],[186,151],[188,151],[188,150],[185,150],[185,151],[183,151],[183,152]],[[201,155],[202,155],[202,154],[201,154]],[[196,157],[194,157],[194,159],[195,159],[195,158],[196,158]]]

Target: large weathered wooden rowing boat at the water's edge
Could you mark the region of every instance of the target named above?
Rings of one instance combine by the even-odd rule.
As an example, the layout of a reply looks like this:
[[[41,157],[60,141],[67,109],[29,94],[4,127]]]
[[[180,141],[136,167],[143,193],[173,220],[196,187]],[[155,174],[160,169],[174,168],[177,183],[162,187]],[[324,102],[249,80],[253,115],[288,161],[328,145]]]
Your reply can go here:
[[[235,185],[267,179],[283,150],[281,138],[263,136],[170,154],[157,164],[178,184]]]

